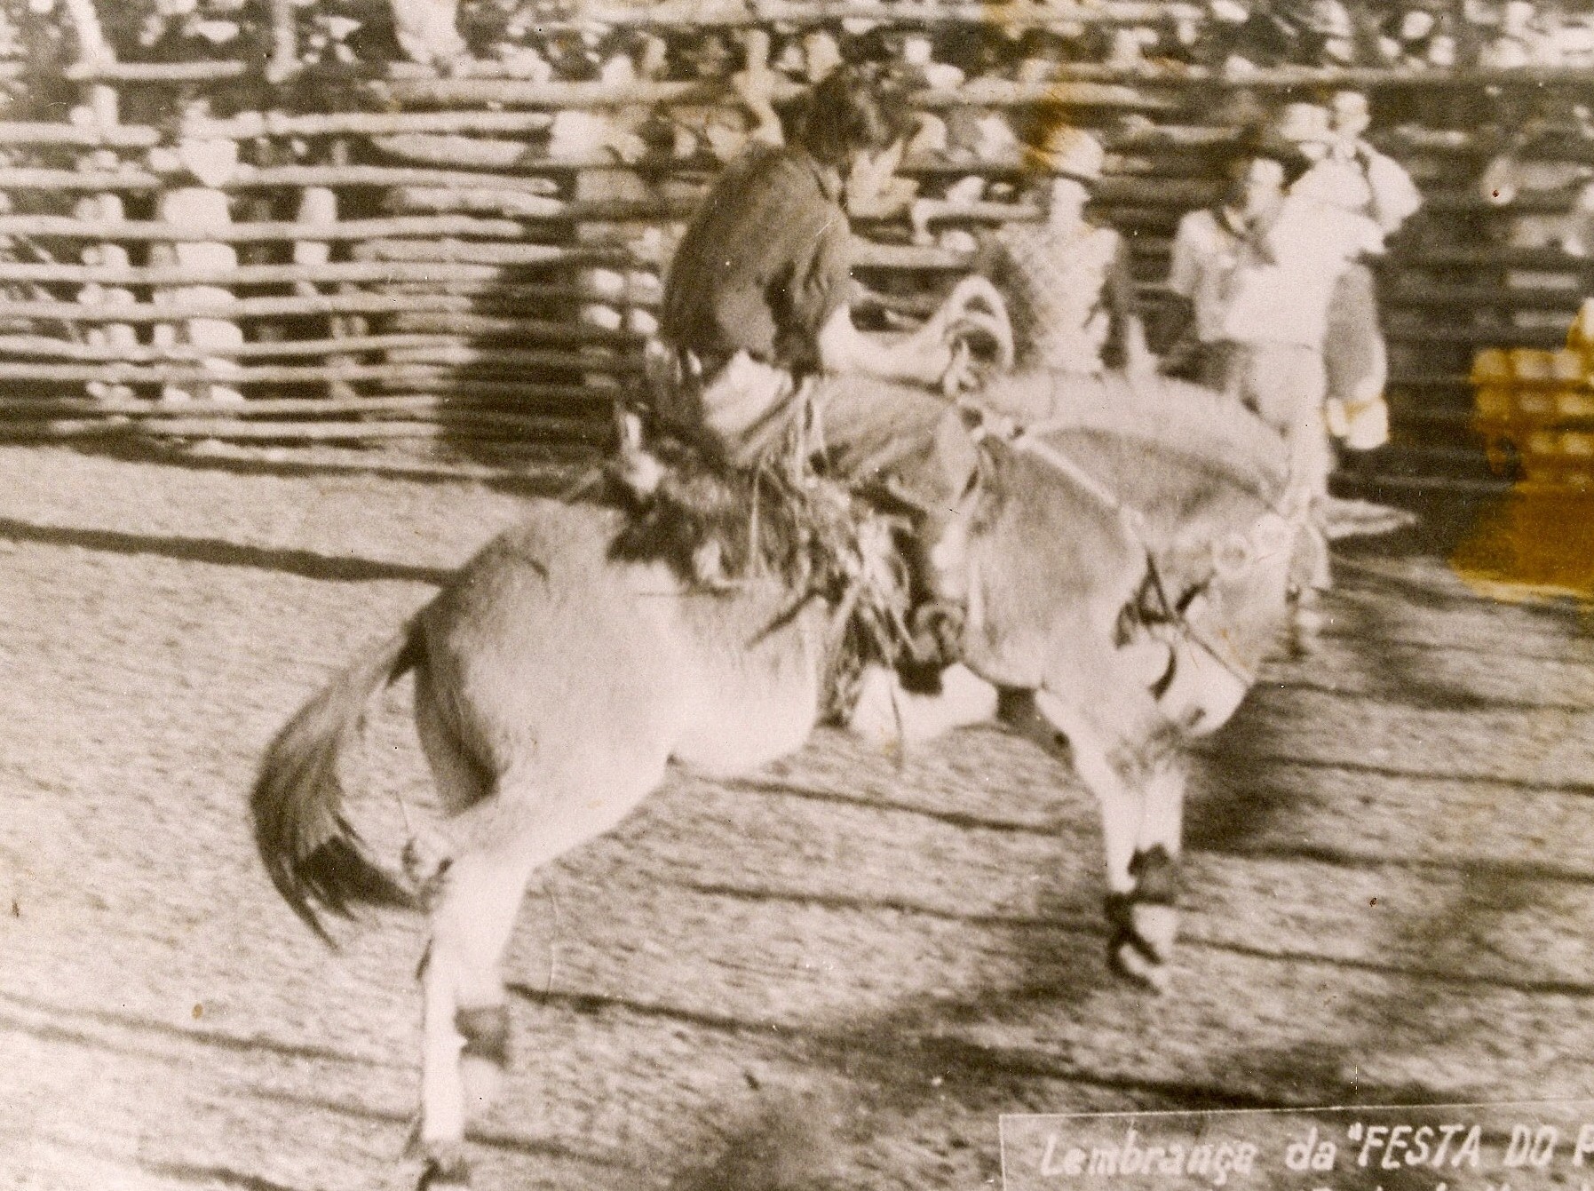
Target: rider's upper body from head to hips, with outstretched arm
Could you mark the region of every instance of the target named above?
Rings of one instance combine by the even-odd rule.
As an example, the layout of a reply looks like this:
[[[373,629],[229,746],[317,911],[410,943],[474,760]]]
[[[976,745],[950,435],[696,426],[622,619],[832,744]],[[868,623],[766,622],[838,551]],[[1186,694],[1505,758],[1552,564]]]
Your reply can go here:
[[[789,147],[748,150],[714,183],[676,249],[655,352],[674,376],[657,387],[666,421],[706,430],[754,462],[799,416],[805,381],[864,373],[932,386],[953,352],[853,328],[845,193],[889,175],[910,131],[904,96],[875,67],[821,80]],[[658,370],[655,368],[655,373]],[[928,394],[926,394],[928,395]]]

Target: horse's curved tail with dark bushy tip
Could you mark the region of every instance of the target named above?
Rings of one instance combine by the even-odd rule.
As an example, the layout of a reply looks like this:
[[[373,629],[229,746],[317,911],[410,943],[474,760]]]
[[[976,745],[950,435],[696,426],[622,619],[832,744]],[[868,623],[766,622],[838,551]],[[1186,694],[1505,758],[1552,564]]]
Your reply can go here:
[[[359,733],[371,694],[413,670],[419,647],[414,625],[406,625],[338,674],[277,732],[255,778],[250,810],[260,858],[277,893],[327,942],[317,906],[347,918],[351,904],[416,904],[370,859],[343,816],[338,754]]]

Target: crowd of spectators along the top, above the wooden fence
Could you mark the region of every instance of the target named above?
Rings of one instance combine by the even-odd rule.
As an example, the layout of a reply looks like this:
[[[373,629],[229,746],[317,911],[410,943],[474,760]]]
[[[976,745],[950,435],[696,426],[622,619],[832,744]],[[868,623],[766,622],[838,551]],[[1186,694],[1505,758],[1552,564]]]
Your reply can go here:
[[[389,10],[386,0],[298,3],[298,51],[306,64],[403,57],[400,26],[403,10],[413,8],[440,10],[443,19],[435,27],[457,29],[470,57],[499,61],[529,77],[599,78],[617,54],[628,57],[639,75],[668,78],[730,75],[741,61],[740,48],[724,32],[677,27],[660,37],[582,27],[582,5],[537,0],[456,0],[456,5],[395,0]],[[65,6],[69,0],[3,0],[0,57],[48,61],[51,40],[62,37],[65,19],[59,10]],[[99,8],[118,57],[183,59],[218,53],[247,57],[271,37],[269,0],[118,0]],[[1033,8],[1046,11],[1044,5]],[[1079,21],[1047,29],[999,21],[974,27],[948,24],[929,40],[928,57],[948,81],[977,75],[1042,77],[1058,64],[1125,70],[1200,67],[1227,73],[1282,65],[1414,70],[1594,65],[1589,0],[1203,0],[1167,10],[1167,16],[1138,24]],[[928,14],[918,5],[905,6],[905,14],[912,24],[926,24]],[[891,26],[866,19],[783,27],[773,33],[778,69],[807,78],[824,73],[827,53],[869,56],[878,49],[875,43],[902,38]],[[419,57],[411,46],[405,49]]]

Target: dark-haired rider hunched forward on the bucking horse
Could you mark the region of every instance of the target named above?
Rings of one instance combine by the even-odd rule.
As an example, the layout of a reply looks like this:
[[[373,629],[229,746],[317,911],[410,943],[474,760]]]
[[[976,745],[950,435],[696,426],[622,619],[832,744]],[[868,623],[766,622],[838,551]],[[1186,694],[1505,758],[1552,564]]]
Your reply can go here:
[[[912,128],[905,88],[878,65],[818,83],[786,147],[757,145],[714,183],[665,284],[650,346],[655,424],[732,467],[819,456],[826,472],[915,512],[902,542],[915,601],[913,654],[950,652],[950,606],[936,596],[928,544],[956,477],[960,434],[947,392],[972,364],[932,320],[872,335],[851,320],[846,206],[874,198]],[[960,456],[961,458],[961,456]],[[955,620],[955,615],[952,617]]]

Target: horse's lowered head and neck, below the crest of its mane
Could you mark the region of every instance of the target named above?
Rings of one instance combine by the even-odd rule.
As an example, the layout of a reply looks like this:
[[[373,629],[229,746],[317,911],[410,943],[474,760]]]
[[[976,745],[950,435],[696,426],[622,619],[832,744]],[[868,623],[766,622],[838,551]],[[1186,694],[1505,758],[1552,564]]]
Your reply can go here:
[[[963,579],[969,665],[1068,695],[1122,682],[1183,730],[1221,725],[1278,641],[1304,518],[1254,477],[1144,438],[1106,450],[1100,430],[968,423],[977,466],[936,556]],[[1141,512],[1148,493],[1156,509]]]

